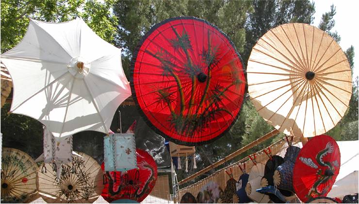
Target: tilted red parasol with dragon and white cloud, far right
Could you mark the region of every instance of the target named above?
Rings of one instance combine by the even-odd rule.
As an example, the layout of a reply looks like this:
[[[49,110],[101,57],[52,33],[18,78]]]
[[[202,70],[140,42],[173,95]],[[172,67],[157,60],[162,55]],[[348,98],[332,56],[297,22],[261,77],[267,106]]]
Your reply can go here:
[[[318,135],[303,146],[295,161],[293,186],[303,202],[323,197],[332,188],[340,169],[340,151],[333,138]]]

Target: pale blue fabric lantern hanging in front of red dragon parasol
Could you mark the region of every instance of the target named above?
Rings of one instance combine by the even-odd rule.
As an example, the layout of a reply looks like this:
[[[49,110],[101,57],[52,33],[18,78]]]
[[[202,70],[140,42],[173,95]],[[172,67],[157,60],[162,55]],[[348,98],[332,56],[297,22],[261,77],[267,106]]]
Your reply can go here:
[[[133,133],[115,133],[103,140],[105,171],[128,171],[137,168]]]

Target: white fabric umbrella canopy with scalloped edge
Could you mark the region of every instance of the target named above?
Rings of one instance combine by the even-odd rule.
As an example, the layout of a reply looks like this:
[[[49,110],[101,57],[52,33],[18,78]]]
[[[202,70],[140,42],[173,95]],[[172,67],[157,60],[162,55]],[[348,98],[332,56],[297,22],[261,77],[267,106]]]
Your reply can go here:
[[[14,84],[10,112],[42,122],[55,137],[107,133],[117,107],[131,95],[121,49],[82,19],[30,20],[13,49],[1,55]]]

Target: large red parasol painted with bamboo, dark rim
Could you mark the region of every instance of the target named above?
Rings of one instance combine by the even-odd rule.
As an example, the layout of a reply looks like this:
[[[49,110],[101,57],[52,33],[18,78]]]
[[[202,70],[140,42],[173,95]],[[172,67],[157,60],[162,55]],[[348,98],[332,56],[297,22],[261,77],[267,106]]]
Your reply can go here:
[[[218,28],[195,17],[156,24],[133,54],[131,89],[147,124],[176,144],[227,132],[245,93],[242,60]]]

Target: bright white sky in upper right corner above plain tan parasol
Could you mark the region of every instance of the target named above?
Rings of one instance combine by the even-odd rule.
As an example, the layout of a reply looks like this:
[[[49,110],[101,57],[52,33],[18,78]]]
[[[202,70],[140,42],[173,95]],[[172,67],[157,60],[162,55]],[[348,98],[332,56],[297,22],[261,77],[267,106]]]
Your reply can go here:
[[[314,0],[315,14],[313,26],[318,26],[322,14],[330,11],[330,5],[336,7],[334,15],[335,26],[331,31],[337,31],[342,40],[340,46],[346,51],[350,45],[354,46],[354,75],[359,75],[359,1],[357,0]]]

